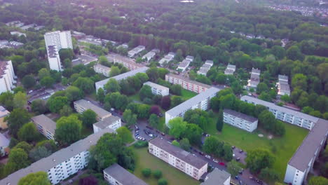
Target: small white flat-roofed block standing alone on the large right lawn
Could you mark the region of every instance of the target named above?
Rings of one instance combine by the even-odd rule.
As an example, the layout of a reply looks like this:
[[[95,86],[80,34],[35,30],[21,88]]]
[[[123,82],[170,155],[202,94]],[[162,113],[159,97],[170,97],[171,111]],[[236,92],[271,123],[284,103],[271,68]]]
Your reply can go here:
[[[242,114],[238,111],[233,111],[231,109],[224,109],[224,123],[233,125],[236,128],[246,130],[248,132],[253,132],[257,129],[257,118]]]

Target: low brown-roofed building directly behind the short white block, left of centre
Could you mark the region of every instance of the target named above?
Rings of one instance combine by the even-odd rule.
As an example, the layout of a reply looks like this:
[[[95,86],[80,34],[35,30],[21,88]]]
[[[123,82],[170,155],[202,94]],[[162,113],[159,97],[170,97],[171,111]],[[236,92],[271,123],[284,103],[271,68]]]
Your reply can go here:
[[[111,116],[111,113],[109,111],[97,107],[95,104],[83,99],[74,102],[74,109],[79,114],[82,114],[83,111],[86,111],[88,109],[93,110],[95,114],[97,114],[97,121],[102,121],[104,120],[104,118],[108,118],[109,116]]]

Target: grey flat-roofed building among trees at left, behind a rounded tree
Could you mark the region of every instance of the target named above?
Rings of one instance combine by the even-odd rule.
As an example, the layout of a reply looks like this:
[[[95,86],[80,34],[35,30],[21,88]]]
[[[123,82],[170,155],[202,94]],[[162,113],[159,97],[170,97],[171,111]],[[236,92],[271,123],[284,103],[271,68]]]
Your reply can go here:
[[[41,114],[31,118],[32,122],[36,126],[39,132],[48,139],[55,139],[56,123],[46,115]]]

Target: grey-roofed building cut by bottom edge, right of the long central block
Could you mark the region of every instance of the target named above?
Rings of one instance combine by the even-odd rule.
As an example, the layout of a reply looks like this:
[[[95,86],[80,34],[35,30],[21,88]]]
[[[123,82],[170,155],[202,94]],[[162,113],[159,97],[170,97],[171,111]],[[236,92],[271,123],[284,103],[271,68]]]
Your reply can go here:
[[[215,167],[212,172],[207,174],[204,182],[200,185],[230,185],[230,180],[231,174]]]

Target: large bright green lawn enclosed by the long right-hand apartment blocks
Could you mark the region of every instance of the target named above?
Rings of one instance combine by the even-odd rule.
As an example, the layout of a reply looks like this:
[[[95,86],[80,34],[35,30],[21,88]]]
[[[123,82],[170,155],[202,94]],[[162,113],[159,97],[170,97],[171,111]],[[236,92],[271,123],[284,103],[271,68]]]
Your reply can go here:
[[[285,175],[289,159],[292,157],[306,135],[308,135],[308,130],[289,123],[284,124],[286,134],[283,137],[273,139],[268,139],[268,135],[266,135],[265,132],[256,130],[250,133],[228,124],[224,124],[222,132],[219,133],[216,130],[215,123],[216,119],[213,119],[206,132],[217,137],[221,141],[228,142],[233,146],[244,149],[245,151],[263,148],[273,152],[276,157],[273,168],[279,172],[280,179]],[[259,133],[263,134],[264,137],[259,137]]]

